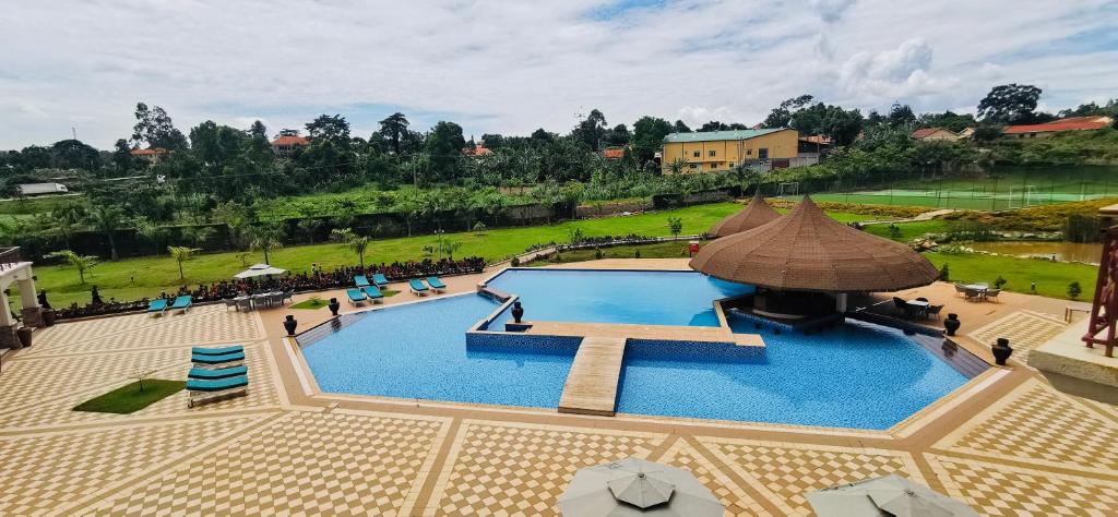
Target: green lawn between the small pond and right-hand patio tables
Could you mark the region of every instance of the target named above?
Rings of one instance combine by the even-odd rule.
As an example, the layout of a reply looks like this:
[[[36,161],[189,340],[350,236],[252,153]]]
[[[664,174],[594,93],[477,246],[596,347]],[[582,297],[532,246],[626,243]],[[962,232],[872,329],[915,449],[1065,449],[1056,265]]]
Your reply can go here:
[[[1030,285],[1035,281],[1038,295],[1068,298],[1068,284],[1078,281],[1083,289],[1083,294],[1079,296],[1081,301],[1089,301],[1095,296],[1095,281],[1099,274],[1097,266],[1031,258],[936,252],[923,256],[937,268],[947,264],[953,281],[984,281],[993,286],[994,280],[1001,276],[1006,279],[1002,288],[1014,293],[1032,294]]]

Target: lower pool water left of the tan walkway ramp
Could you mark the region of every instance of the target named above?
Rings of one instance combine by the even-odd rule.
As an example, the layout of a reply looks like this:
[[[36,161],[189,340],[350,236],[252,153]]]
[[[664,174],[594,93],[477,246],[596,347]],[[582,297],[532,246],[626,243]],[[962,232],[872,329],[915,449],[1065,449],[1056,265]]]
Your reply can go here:
[[[466,348],[466,329],[499,305],[451,296],[358,316],[302,348],[325,392],[556,408],[577,350]]]

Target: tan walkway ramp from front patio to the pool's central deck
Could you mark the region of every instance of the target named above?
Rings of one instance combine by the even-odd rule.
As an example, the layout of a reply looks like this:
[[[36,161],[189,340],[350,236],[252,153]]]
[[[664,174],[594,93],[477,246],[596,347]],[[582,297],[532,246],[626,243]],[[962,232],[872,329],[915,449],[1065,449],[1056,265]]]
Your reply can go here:
[[[584,337],[559,398],[560,413],[613,417],[624,337]]]

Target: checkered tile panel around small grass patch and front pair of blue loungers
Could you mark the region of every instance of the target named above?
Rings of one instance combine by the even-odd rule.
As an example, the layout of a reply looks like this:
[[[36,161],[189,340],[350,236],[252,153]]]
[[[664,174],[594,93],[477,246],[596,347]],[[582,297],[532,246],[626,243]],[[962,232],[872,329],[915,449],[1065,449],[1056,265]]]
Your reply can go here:
[[[160,370],[153,375],[155,379],[186,379],[189,370],[189,353],[186,348],[178,351],[177,365]],[[131,415],[111,413],[91,413],[84,411],[72,411],[72,409],[101,393],[108,390],[103,386],[93,390],[79,390],[61,399],[50,400],[32,405],[25,405],[21,409],[9,412],[0,412],[0,430],[15,430],[20,428],[37,428],[47,425],[69,425],[75,423],[108,422],[134,418],[150,418],[152,415],[170,415],[176,413],[203,413],[215,409],[238,410],[253,409],[281,403],[278,380],[272,371],[267,357],[267,347],[264,344],[253,344],[245,348],[245,357],[248,364],[248,375],[250,389],[247,396],[229,399],[212,404],[187,408],[187,393],[179,392],[163,399]],[[131,382],[130,379],[122,379],[120,384]],[[0,383],[2,385],[2,383]]]

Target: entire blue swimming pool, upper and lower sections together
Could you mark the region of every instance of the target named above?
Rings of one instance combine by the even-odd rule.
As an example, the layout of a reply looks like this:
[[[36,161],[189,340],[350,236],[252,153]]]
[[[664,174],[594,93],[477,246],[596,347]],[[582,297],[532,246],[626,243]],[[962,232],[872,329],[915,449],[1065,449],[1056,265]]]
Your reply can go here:
[[[717,325],[713,299],[748,289],[651,271],[510,270],[490,285],[521,295],[529,320],[703,326]],[[509,333],[502,344],[467,345],[466,331],[499,306],[473,294],[439,297],[345,315],[300,342],[325,392],[556,408],[579,338]],[[732,312],[728,319],[736,333],[758,332]],[[888,429],[967,381],[917,338],[878,325],[762,335],[764,351],[631,339],[617,412]]]

